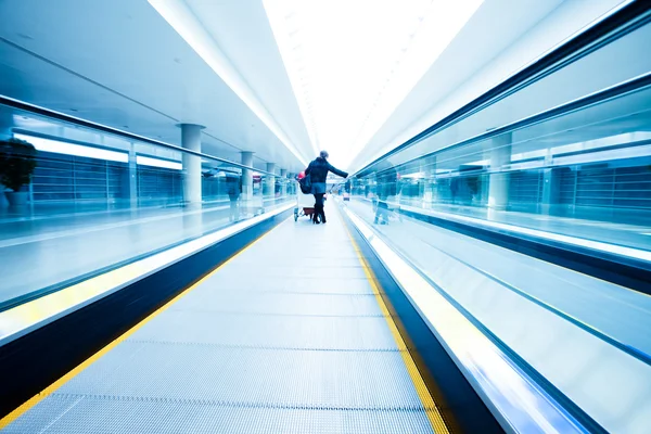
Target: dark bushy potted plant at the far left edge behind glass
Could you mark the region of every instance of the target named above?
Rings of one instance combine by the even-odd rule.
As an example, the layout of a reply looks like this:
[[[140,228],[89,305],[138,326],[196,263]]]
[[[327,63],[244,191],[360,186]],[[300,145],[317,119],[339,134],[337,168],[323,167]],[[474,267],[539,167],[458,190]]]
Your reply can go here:
[[[20,139],[0,141],[0,183],[10,188],[5,191],[11,205],[25,205],[28,193],[21,191],[23,186],[31,182],[36,168],[36,148]]]

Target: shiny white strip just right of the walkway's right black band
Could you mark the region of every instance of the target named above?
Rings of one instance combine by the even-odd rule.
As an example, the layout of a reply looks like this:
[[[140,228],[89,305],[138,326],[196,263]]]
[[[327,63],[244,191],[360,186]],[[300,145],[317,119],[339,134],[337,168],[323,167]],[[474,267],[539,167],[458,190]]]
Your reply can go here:
[[[344,212],[507,432],[586,432],[360,217]]]

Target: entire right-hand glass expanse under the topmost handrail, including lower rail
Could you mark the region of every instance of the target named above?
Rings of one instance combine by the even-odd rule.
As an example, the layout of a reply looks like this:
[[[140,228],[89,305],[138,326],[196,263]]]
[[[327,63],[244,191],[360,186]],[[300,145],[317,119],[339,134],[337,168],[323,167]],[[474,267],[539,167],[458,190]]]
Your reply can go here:
[[[651,25],[641,16],[379,157],[352,180],[353,197],[378,225],[400,209],[651,250]]]

